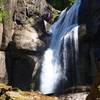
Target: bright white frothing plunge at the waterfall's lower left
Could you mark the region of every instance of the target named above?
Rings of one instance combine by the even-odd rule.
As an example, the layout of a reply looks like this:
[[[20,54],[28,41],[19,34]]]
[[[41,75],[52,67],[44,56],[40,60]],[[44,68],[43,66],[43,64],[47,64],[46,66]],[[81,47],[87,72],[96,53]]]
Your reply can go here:
[[[62,76],[62,69],[59,64],[57,65],[55,62],[53,55],[53,50],[51,49],[48,49],[44,54],[44,62],[40,75],[40,90],[44,94],[53,93]]]

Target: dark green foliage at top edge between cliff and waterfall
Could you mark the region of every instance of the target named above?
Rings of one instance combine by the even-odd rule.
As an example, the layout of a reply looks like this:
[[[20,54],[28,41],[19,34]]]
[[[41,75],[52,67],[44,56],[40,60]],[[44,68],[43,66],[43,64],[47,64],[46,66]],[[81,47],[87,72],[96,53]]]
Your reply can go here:
[[[54,8],[63,10],[64,8],[71,6],[74,0],[47,0]]]

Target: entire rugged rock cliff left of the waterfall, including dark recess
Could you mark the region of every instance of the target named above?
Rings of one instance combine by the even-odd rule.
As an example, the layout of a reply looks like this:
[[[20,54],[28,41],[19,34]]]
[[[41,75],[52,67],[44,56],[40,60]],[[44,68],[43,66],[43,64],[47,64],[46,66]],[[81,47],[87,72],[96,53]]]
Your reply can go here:
[[[52,22],[51,13],[58,12],[49,8],[45,0],[7,0],[9,15],[0,25],[0,82],[31,89],[49,43],[44,19]]]

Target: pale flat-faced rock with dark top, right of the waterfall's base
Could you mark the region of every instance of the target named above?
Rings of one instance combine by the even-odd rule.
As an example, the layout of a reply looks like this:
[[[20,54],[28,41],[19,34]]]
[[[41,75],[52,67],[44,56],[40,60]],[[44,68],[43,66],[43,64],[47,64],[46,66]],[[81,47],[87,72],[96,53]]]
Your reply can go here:
[[[89,86],[70,87],[60,95],[60,100],[86,100],[89,92]]]

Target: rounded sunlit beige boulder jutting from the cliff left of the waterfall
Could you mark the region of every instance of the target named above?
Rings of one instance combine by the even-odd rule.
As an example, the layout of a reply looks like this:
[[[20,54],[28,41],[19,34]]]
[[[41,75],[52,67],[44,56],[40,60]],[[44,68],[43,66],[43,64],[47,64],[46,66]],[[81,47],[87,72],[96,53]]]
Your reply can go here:
[[[43,41],[39,39],[37,31],[33,28],[17,30],[13,35],[13,43],[15,43],[17,49],[29,51],[37,51],[45,46]]]

